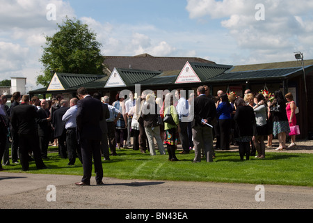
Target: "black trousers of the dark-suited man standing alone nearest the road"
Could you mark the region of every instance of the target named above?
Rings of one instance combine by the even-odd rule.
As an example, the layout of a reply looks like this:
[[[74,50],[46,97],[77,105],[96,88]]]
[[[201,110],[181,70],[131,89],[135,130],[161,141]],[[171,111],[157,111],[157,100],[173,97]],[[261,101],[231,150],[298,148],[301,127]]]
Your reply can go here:
[[[94,163],[96,183],[101,183],[103,169],[100,140],[81,139],[81,157],[83,158],[83,178],[81,179],[81,182],[90,184]]]

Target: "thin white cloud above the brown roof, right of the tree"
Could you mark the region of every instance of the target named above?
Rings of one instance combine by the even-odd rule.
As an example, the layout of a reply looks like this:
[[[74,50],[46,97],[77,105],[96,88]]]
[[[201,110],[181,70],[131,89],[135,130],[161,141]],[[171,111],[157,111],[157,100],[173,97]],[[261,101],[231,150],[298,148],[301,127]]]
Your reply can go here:
[[[151,24],[102,24],[90,17],[82,17],[80,20],[97,33],[97,41],[103,45],[102,54],[107,56],[134,56],[143,53],[168,56],[176,50],[166,41],[169,36],[160,35],[162,31]]]

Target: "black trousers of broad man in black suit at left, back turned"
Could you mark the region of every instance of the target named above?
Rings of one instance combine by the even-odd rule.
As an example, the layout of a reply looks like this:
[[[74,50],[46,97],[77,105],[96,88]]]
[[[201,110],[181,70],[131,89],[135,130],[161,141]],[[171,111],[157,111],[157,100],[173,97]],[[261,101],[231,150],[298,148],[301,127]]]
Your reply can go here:
[[[45,167],[41,158],[38,134],[19,134],[19,160],[22,170],[29,170],[29,152],[33,152],[37,169]]]

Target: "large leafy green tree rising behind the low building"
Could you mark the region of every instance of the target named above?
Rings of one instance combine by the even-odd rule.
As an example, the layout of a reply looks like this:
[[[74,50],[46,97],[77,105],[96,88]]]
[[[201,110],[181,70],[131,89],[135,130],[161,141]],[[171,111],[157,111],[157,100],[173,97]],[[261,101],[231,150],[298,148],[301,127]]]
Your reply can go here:
[[[54,36],[46,36],[46,45],[39,60],[44,66],[44,75],[38,75],[37,84],[48,86],[54,72],[103,75],[101,43],[87,24],[66,17]]]

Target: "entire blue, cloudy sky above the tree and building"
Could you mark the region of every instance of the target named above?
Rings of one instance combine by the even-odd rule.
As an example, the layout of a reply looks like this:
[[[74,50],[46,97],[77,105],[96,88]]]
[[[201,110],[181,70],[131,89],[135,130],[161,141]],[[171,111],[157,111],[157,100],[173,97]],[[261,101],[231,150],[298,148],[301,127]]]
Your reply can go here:
[[[262,3],[264,10],[255,8]],[[56,20],[47,20],[47,6]],[[0,80],[42,74],[45,36],[65,16],[88,24],[110,56],[195,56],[243,65],[313,59],[310,0],[0,0]],[[256,14],[263,13],[264,20]],[[260,14],[257,14],[260,15]]]

